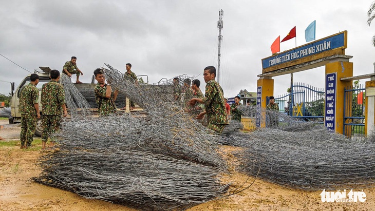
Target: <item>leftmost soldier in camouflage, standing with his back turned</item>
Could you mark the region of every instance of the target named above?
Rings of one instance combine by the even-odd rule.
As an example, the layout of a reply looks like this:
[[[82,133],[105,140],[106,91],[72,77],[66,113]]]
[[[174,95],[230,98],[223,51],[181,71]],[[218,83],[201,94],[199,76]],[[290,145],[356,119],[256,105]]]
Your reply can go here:
[[[39,75],[30,75],[30,83],[21,89],[20,113],[21,113],[21,149],[27,149],[33,141],[36,119],[41,117],[39,113]],[[26,142],[26,145],[25,145]]]

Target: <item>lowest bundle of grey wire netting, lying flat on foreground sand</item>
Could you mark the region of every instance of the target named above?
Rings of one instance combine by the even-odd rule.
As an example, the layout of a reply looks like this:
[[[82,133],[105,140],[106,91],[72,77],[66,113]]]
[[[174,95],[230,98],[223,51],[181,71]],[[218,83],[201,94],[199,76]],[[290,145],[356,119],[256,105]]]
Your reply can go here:
[[[90,199],[143,205],[143,210],[187,208],[221,197],[229,186],[220,184],[220,169],[146,151],[63,150],[44,159],[49,174],[40,182]]]

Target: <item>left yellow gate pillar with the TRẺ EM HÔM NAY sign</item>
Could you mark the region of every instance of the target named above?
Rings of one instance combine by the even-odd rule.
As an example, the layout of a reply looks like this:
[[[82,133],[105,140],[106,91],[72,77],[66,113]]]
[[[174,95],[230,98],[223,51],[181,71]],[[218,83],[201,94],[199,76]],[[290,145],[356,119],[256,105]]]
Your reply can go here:
[[[273,82],[274,80],[271,79],[271,77],[263,76],[260,77],[257,81],[257,87],[258,90],[260,88],[260,127],[266,127],[266,107],[267,107],[267,97],[270,97],[273,95]],[[257,96],[258,101],[258,96]],[[257,114],[258,116],[258,114]],[[259,117],[257,117],[257,121]],[[258,124],[258,123],[257,123]],[[258,126],[258,125],[257,125]]]

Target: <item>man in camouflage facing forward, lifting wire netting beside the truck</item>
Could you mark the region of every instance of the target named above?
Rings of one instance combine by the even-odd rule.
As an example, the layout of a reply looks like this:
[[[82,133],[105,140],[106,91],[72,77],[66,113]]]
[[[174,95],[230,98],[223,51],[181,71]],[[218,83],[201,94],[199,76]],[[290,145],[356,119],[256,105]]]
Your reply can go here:
[[[98,84],[95,86],[95,101],[98,103],[99,115],[108,115],[116,113],[115,100],[117,98],[118,91],[114,92],[111,89],[111,85],[105,84],[105,76],[103,70],[98,68],[94,71],[95,79]]]

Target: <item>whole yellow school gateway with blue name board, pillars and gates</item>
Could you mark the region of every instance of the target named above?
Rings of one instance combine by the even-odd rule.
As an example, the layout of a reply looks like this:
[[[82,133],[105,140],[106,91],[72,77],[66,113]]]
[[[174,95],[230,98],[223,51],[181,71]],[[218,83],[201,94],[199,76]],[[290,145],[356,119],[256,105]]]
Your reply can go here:
[[[273,95],[274,80],[272,77],[325,66],[324,94],[322,93],[322,90],[315,91],[316,93],[321,94],[321,97],[323,98],[324,112],[323,116],[316,114],[315,117],[323,118],[324,125],[330,131],[349,136],[353,130],[352,126],[355,126],[353,124],[357,124],[361,121],[358,121],[357,117],[352,117],[352,103],[350,103],[350,105],[348,105],[348,103],[346,105],[344,104],[344,96],[345,94],[348,95],[348,89],[345,91],[345,87],[351,87],[353,80],[363,79],[363,76],[366,76],[366,78],[371,77],[371,81],[366,82],[366,106],[364,109],[366,115],[363,115],[365,120],[362,121],[361,124],[363,122],[367,123],[364,126],[365,134],[372,130],[373,123],[375,122],[375,113],[373,111],[373,108],[375,107],[375,81],[372,80],[375,79],[375,74],[353,77],[353,63],[349,62],[349,59],[353,56],[345,55],[346,48],[347,31],[343,31],[262,59],[262,74],[257,75],[259,77],[257,81],[257,127],[266,127],[265,118],[261,118],[259,114],[261,113],[261,109],[266,108],[268,103],[267,98]],[[293,84],[292,89],[296,86],[298,85]],[[302,86],[309,88],[307,85],[301,85],[299,86],[299,89],[301,89]],[[293,101],[290,99],[290,103],[293,102],[297,104],[297,102],[294,102],[295,99],[299,98],[296,97],[297,93],[292,90],[290,91],[291,93],[289,93],[288,97],[291,99],[294,98]],[[297,92],[301,91],[298,90]],[[298,94],[301,95],[303,93]],[[316,100],[320,99],[315,99],[315,101]],[[300,107],[299,109],[298,107],[296,108],[296,112],[298,112],[298,115],[296,116],[307,118],[306,114],[308,113],[306,112],[306,103],[308,102],[312,104],[313,101],[314,100],[311,99],[308,101],[304,99],[302,102],[299,100],[298,103]],[[303,103],[302,105],[305,107],[301,106],[301,103]],[[284,110],[285,108],[288,108],[287,112],[290,114],[294,112],[293,108],[295,109],[295,106],[297,105],[283,107]],[[308,109],[309,108],[307,108],[307,110]],[[369,125],[369,127],[367,127],[367,125]]]

